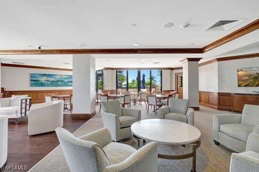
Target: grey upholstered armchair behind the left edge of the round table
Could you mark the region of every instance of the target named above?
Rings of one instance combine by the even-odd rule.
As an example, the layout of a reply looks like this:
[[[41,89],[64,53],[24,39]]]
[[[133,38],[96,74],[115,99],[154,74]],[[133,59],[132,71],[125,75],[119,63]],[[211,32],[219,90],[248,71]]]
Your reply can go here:
[[[131,124],[141,120],[141,111],[121,108],[118,100],[103,101],[101,115],[104,126],[111,132],[115,142],[131,136]]]

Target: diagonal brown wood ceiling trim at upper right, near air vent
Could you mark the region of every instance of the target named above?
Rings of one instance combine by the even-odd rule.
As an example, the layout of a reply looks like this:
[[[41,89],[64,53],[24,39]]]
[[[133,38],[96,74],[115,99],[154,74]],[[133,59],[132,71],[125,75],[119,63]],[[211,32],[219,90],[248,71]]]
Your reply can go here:
[[[240,28],[240,29],[237,29],[235,31],[233,31],[232,33],[229,33],[228,35],[222,37],[221,39],[218,39],[208,45],[206,45],[205,47],[203,47],[203,53],[207,52],[207,51],[210,51],[216,47],[219,47],[227,42],[230,42],[234,39],[237,39],[241,36],[244,36],[252,31],[255,31],[259,29],[259,19],[255,20],[254,22]]]

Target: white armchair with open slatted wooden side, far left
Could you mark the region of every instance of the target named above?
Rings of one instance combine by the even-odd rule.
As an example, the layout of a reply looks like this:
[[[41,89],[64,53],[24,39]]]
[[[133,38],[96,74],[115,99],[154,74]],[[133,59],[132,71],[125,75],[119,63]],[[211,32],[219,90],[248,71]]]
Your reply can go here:
[[[32,98],[28,95],[12,95],[12,97],[0,98],[0,117],[15,119],[28,115],[32,105]]]

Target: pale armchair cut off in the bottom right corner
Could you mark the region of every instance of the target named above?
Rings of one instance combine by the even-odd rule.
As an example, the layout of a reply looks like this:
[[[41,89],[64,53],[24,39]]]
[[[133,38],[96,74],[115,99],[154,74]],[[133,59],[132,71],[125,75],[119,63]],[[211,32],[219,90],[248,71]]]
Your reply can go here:
[[[232,153],[230,172],[259,172],[259,134],[255,134],[255,129],[249,134],[246,151]]]

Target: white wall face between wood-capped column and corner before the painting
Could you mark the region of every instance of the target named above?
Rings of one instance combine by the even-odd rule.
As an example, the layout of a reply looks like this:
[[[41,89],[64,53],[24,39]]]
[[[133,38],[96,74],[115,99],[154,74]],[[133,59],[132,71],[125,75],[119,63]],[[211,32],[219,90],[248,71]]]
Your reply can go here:
[[[199,90],[218,92],[218,62],[199,67]]]

